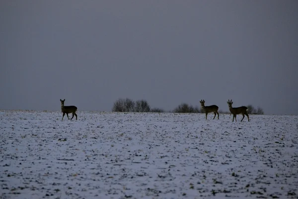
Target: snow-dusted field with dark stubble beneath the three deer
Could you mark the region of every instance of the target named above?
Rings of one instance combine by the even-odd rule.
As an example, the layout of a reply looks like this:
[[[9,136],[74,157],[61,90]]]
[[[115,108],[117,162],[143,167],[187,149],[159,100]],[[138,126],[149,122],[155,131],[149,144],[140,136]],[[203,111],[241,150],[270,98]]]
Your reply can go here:
[[[77,116],[0,111],[0,198],[298,198],[298,116]]]

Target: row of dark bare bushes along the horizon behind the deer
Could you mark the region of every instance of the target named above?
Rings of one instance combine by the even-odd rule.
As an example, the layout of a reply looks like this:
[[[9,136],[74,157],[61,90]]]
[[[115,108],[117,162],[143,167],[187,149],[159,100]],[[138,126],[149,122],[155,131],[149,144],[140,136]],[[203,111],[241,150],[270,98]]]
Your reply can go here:
[[[247,113],[248,114],[258,114],[263,115],[264,111],[261,107],[255,108],[253,105],[247,105]],[[202,110],[199,106],[193,106],[188,103],[181,103],[177,107],[175,107],[173,110],[165,111],[162,108],[151,108],[148,101],[145,99],[140,99],[137,101],[134,101],[132,99],[126,98],[126,99],[117,99],[112,108],[113,112],[174,112],[174,113],[204,113],[204,110]],[[223,111],[219,110],[219,113],[222,114],[229,114],[229,111]]]

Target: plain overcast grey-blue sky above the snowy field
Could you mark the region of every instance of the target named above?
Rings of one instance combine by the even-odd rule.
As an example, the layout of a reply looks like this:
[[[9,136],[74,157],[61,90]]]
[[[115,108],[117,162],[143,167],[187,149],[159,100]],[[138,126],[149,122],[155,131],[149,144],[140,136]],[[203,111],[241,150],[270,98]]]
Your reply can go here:
[[[298,0],[1,0],[0,109],[298,114]]]

